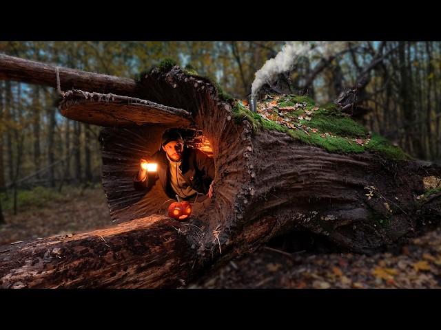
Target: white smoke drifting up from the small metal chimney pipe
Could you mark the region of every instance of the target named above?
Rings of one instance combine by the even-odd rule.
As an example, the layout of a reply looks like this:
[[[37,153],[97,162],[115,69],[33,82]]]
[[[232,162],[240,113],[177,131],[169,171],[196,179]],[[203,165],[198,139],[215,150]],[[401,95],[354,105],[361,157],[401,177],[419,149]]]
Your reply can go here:
[[[275,58],[270,58],[262,68],[256,72],[256,78],[252,83],[252,96],[255,96],[258,89],[265,83],[271,83],[276,76],[282,72],[291,71],[294,63],[300,56],[312,58],[320,55],[322,58],[329,58],[341,50],[345,43],[341,41],[318,41],[314,44],[302,41],[288,41],[283,45]],[[314,47],[313,47],[314,46]]]

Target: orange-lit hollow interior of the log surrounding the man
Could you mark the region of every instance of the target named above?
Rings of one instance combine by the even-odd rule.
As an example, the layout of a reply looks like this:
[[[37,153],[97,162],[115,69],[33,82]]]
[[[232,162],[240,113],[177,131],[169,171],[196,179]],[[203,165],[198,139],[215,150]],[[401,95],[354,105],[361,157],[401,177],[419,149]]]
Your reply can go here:
[[[101,132],[103,187],[109,201],[110,215],[113,221],[130,221],[152,214],[170,216],[170,212],[173,214],[173,211],[181,214],[181,205],[175,205],[176,207],[169,210],[172,203],[176,202],[176,194],[170,185],[163,185],[168,180],[166,175],[168,176],[170,173],[164,171],[164,166],[167,166],[168,161],[165,152],[161,150],[161,140],[163,134],[170,130],[178,130],[187,149],[198,149],[198,151],[205,153],[209,159],[213,159],[214,163],[212,145],[204,132],[197,126],[189,128],[143,125],[129,128],[106,128]],[[157,152],[163,153],[162,162],[156,163],[156,173],[159,177],[159,172],[162,171],[162,181],[158,178],[156,181],[153,180],[151,188],[136,189],[134,178],[139,173],[140,159],[151,159]],[[213,166],[215,167],[215,164]],[[187,179],[192,178],[193,175],[189,176],[189,170],[187,173]],[[198,187],[196,190],[200,190],[201,187],[203,187],[202,190],[207,190],[211,181],[208,182],[206,174],[204,173],[204,180],[200,181],[197,181],[199,177],[194,175],[195,181],[192,181],[192,184]],[[198,186],[198,184],[201,185]],[[205,212],[209,205],[209,198],[201,193],[196,197],[197,199],[189,197],[183,201],[191,203],[191,215],[198,217],[198,214]],[[187,208],[185,209],[187,210]],[[189,216],[184,217],[184,214],[181,214],[181,217],[183,217],[181,220],[186,220]]]

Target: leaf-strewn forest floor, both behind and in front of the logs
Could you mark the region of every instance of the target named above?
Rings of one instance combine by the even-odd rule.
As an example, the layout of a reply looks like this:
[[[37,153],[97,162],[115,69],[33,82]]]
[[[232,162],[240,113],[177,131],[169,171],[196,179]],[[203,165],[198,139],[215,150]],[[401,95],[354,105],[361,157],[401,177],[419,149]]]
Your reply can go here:
[[[101,186],[65,187],[44,203],[4,211],[0,245],[112,225]],[[41,193],[39,194],[41,195]],[[294,253],[263,247],[209,270],[189,288],[440,288],[441,228],[393,252]]]

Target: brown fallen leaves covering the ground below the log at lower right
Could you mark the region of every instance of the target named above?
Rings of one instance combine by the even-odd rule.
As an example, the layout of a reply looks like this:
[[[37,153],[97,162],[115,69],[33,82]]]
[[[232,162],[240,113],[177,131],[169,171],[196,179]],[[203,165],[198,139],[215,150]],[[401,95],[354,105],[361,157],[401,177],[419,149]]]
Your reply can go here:
[[[296,252],[291,256],[260,249],[209,272],[189,287],[369,289],[441,288],[441,228],[408,245],[368,256]]]

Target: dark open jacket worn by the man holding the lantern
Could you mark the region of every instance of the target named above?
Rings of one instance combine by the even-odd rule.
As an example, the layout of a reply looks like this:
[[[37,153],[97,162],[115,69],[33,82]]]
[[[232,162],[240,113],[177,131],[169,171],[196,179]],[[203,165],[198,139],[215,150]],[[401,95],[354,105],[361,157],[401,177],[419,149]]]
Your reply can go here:
[[[150,190],[156,181],[159,179],[161,186],[165,193],[170,198],[176,198],[176,192],[170,185],[170,168],[167,154],[162,149],[157,151],[150,157],[150,161],[158,164],[158,169],[155,173],[147,173],[147,177],[144,181],[137,179],[137,175],[134,177],[134,188],[136,190]],[[208,157],[202,151],[193,148],[187,148],[185,146],[183,151],[183,157],[181,166],[179,166],[182,175],[189,186],[194,190],[204,195],[204,197],[198,197],[198,201],[202,201],[206,198],[209,185],[214,179],[214,159]],[[192,197],[193,199],[194,197]]]

